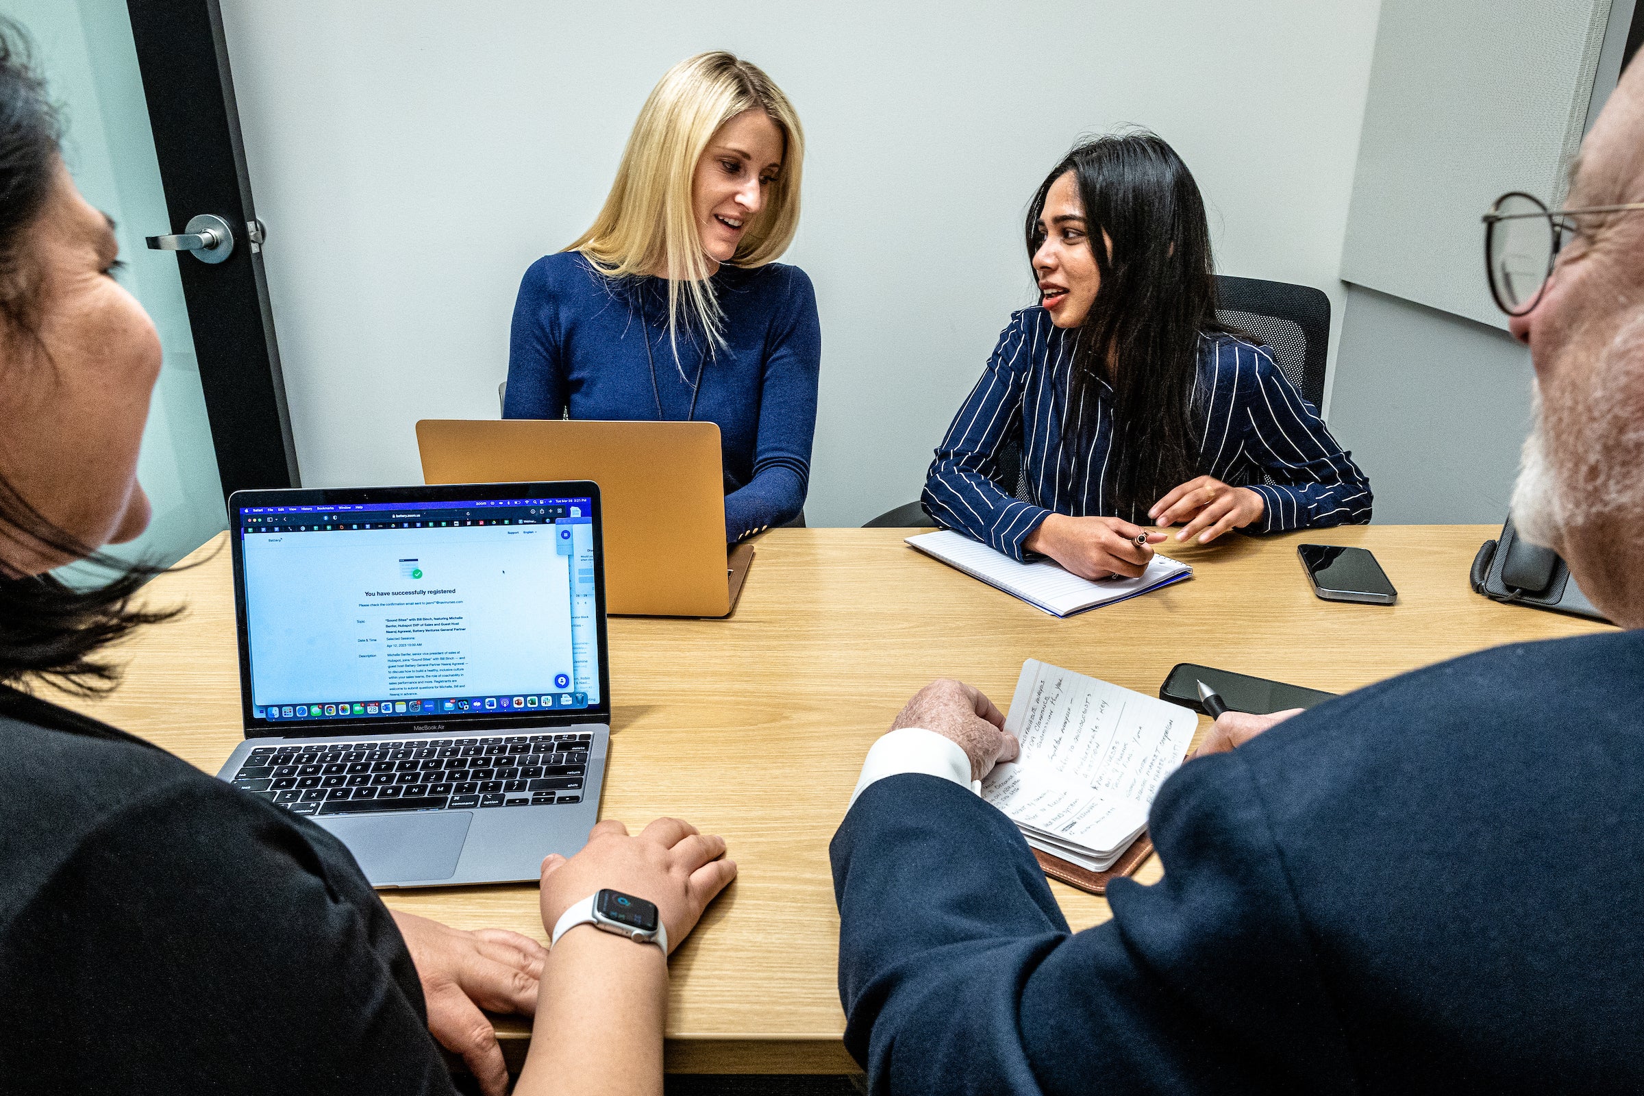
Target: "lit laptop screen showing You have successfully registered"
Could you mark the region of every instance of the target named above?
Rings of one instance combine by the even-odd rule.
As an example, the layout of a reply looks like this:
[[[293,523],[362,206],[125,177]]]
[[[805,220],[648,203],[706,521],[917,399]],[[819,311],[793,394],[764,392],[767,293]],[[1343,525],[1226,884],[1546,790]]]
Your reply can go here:
[[[233,496],[253,735],[603,707],[592,490],[452,490]]]

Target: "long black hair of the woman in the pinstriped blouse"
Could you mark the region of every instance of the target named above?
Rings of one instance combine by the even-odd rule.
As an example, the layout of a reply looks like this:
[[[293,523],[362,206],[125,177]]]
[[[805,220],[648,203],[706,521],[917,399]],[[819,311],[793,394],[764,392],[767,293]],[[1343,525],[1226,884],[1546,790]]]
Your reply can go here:
[[[1175,150],[1146,130],[1113,133],[1074,148],[1039,186],[1028,207],[1029,265],[1044,243],[1046,194],[1067,173],[1085,207],[1101,286],[1074,342],[1062,435],[1088,439],[1097,429],[1092,389],[1106,380],[1113,386],[1106,467],[1115,513],[1134,521],[1198,475],[1189,406],[1198,337],[1228,330],[1217,320],[1210,225],[1198,184]],[[1083,478],[1088,445],[1064,452],[1070,452],[1069,472]]]

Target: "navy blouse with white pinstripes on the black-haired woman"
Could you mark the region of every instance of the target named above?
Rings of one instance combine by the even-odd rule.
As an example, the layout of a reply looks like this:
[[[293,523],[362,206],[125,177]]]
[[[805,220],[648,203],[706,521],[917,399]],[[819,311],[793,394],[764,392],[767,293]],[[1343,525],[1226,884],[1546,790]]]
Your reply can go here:
[[[1075,335],[1077,329],[1055,327],[1042,307],[1013,314],[926,477],[921,501],[937,521],[1013,559],[1023,559],[1023,541],[1052,511],[1149,524],[1146,508],[1154,500],[1129,514],[1116,513],[1111,501],[1113,389],[1106,381],[1095,389],[1088,452],[1077,460],[1064,454],[1060,424]],[[1233,335],[1202,335],[1190,417],[1200,439],[1198,473],[1248,486],[1266,503],[1246,531],[1369,521],[1369,480],[1266,348]],[[1000,449],[1013,437],[1021,442],[1026,501],[1004,483],[1014,473],[998,465]],[[1083,472],[1070,475],[1069,468]]]

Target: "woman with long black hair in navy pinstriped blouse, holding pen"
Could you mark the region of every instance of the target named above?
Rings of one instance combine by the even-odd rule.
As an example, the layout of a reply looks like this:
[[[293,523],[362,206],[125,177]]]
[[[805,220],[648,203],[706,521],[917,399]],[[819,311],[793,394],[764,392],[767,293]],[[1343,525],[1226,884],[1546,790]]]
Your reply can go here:
[[[1369,521],[1369,480],[1317,409],[1217,319],[1203,199],[1161,138],[1069,153],[1029,207],[1028,255],[1041,304],[1011,317],[935,450],[932,516],[1087,578],[1146,569],[1167,534],[1144,519],[1200,544]],[[1000,467],[1014,447],[1026,500]]]

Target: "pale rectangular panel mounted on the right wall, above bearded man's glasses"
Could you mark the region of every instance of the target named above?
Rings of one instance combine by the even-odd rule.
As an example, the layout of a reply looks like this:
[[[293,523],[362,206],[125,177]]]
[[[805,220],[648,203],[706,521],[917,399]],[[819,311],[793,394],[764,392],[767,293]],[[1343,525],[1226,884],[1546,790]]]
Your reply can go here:
[[[1383,5],[1343,281],[1508,329],[1478,273],[1478,219],[1508,191],[1559,205],[1609,12],[1609,0]],[[1618,71],[1626,28],[1611,41]]]

